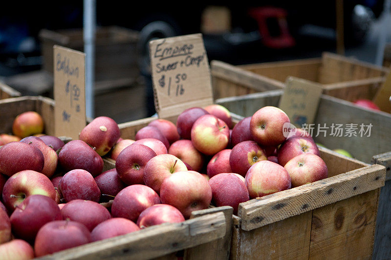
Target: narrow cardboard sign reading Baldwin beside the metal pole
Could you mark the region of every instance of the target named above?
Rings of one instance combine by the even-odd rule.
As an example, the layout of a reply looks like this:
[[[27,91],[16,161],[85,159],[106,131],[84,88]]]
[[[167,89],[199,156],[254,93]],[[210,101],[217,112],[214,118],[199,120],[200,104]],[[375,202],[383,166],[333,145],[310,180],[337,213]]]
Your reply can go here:
[[[86,126],[85,57],[79,51],[54,45],[54,132],[79,139]]]

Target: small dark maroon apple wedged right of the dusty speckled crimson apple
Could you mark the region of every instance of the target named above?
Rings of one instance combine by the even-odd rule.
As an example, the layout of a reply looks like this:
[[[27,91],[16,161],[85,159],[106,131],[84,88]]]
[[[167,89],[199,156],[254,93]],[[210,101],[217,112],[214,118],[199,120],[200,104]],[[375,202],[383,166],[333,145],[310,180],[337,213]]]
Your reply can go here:
[[[107,170],[95,177],[95,182],[102,196],[110,195],[115,197],[118,192],[125,188],[125,183],[119,178],[115,168]]]

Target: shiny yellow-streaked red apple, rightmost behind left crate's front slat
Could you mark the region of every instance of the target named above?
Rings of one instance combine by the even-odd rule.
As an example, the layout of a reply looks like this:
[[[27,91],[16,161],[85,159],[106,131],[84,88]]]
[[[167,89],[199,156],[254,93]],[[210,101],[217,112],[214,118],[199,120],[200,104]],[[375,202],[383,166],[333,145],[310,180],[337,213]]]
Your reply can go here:
[[[180,211],[168,204],[155,204],[143,212],[137,219],[137,225],[145,228],[163,223],[179,223],[185,221]]]

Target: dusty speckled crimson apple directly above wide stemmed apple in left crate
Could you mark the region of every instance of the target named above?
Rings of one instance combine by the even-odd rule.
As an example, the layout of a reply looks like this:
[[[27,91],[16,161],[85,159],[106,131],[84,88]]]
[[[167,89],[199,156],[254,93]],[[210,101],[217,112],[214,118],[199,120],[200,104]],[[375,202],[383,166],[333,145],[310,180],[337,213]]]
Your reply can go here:
[[[92,200],[98,202],[101,192],[92,175],[83,169],[71,170],[60,181],[60,191],[66,202]]]

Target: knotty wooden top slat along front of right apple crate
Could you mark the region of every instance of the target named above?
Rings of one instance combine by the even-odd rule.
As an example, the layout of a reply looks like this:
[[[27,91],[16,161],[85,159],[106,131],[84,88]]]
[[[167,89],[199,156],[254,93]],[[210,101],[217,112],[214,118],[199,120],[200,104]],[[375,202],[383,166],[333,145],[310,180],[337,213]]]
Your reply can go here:
[[[241,228],[252,230],[377,189],[385,178],[386,168],[375,164],[241,203]]]

